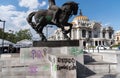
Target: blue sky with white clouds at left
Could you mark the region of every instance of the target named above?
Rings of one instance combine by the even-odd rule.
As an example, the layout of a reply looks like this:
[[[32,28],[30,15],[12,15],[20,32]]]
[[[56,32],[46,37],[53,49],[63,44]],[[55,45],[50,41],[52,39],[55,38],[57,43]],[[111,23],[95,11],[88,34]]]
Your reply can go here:
[[[100,22],[103,26],[112,26],[115,31],[120,30],[120,0],[55,0],[57,6],[67,1],[79,3],[79,9],[91,21]],[[5,31],[19,31],[30,29],[34,38],[38,34],[29,26],[26,17],[32,11],[47,9],[48,0],[0,0],[0,19],[6,21]],[[79,11],[78,11],[79,15]],[[69,22],[73,20],[73,16]],[[2,28],[3,23],[0,22]],[[49,34],[55,30],[50,28]],[[45,29],[44,29],[45,32]]]

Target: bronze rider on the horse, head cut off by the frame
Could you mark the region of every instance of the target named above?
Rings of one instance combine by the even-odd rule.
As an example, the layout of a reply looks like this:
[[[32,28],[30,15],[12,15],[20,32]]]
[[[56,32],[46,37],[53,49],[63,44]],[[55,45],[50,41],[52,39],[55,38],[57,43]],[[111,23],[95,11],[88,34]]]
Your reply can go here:
[[[53,11],[52,22],[55,23],[55,24],[58,24],[59,23],[58,16],[59,16],[60,8],[58,6],[56,6],[55,0],[49,0],[49,8],[48,9]]]

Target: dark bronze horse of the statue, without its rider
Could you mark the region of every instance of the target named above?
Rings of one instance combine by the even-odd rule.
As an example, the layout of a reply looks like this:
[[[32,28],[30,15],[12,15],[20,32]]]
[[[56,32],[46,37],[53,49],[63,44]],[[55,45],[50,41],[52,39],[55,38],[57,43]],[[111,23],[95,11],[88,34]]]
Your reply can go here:
[[[39,10],[32,12],[27,17],[27,22],[32,28],[40,35],[41,41],[47,41],[46,37],[42,33],[43,28],[47,24],[56,25],[57,27],[62,29],[62,33],[67,40],[70,40],[70,37],[67,34],[72,29],[72,24],[68,23],[69,18],[72,15],[77,15],[78,12],[78,3],[76,2],[66,2],[60,7],[58,21],[59,23],[53,23],[51,20],[53,18],[53,10]],[[35,22],[32,22],[32,18],[34,16]],[[69,29],[66,30],[64,26],[69,26]]]

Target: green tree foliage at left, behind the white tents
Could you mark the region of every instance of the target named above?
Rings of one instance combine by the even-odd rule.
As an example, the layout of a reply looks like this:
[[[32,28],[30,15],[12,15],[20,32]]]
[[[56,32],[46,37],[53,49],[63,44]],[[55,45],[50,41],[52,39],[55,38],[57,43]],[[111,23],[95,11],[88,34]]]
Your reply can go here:
[[[3,39],[3,34],[4,34],[4,39],[11,41],[13,43],[16,43],[18,41],[24,40],[24,39],[28,39],[31,40],[32,39],[32,34],[30,32],[29,29],[25,29],[25,30],[20,30],[18,32],[14,33],[8,33],[8,32],[3,32],[2,29],[0,29],[0,38]]]

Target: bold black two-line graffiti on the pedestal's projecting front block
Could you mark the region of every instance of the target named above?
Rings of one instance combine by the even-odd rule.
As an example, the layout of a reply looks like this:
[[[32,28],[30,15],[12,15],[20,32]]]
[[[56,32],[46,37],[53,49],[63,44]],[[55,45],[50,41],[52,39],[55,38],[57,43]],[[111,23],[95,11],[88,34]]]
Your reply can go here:
[[[76,60],[72,57],[54,57],[48,56],[48,60],[51,62],[52,69],[57,70],[75,70]]]

